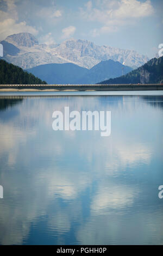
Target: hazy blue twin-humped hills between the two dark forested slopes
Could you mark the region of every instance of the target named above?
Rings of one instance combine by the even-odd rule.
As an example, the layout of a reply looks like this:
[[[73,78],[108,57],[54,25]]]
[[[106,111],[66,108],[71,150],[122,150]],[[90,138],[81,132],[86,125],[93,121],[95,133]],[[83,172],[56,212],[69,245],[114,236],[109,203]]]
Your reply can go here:
[[[114,60],[105,60],[91,69],[82,68],[73,63],[45,64],[27,71],[45,80],[48,84],[95,84],[102,80],[127,74],[132,69]]]

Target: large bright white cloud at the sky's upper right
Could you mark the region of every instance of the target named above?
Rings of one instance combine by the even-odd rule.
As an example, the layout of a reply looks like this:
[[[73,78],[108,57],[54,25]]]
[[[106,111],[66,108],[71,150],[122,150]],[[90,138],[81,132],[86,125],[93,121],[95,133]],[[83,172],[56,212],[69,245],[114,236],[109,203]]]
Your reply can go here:
[[[85,4],[85,9],[80,8],[80,15],[89,21],[98,21],[103,24],[99,29],[93,29],[92,35],[115,32],[119,27],[131,25],[137,18],[150,16],[154,13],[151,1],[140,2],[138,0],[113,0],[97,1],[96,8],[92,8],[92,2]]]

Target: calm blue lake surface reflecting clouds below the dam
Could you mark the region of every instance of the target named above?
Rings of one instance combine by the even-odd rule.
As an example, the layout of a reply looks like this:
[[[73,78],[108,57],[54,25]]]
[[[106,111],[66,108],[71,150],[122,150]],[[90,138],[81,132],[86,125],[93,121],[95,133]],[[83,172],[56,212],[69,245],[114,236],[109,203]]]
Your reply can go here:
[[[54,131],[111,111],[111,135]],[[163,244],[162,96],[0,96],[0,244]]]

